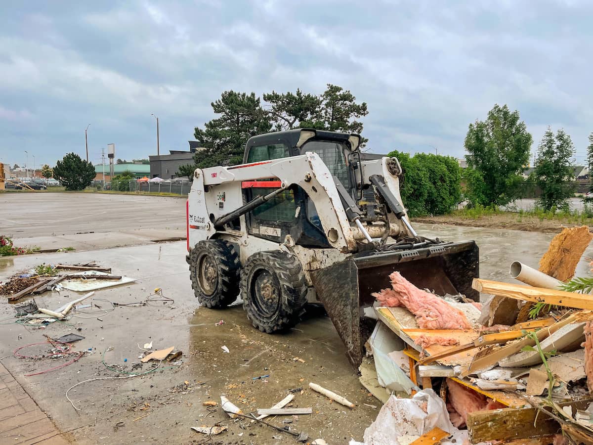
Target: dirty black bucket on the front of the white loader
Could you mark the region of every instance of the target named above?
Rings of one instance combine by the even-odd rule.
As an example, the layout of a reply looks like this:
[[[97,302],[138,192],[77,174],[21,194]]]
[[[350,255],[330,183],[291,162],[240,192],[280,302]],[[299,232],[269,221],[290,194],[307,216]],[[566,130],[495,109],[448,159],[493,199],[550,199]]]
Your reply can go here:
[[[346,355],[356,368],[364,356],[364,344],[371,335],[375,320],[363,310],[372,306],[371,293],[390,288],[389,275],[399,271],[421,289],[438,295],[464,294],[474,301],[479,293],[471,281],[479,275],[478,247],[475,241],[433,244],[413,250],[372,252],[311,271],[317,298],[343,343]]]

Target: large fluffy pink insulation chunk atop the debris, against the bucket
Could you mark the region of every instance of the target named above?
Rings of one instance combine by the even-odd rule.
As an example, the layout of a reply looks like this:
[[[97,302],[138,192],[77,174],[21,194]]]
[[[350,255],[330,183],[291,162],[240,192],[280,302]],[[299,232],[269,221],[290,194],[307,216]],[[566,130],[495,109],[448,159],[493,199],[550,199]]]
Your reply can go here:
[[[393,272],[389,278],[393,289],[383,289],[372,296],[384,306],[405,306],[416,316],[420,329],[471,329],[463,312],[447,301],[417,288],[399,272]]]

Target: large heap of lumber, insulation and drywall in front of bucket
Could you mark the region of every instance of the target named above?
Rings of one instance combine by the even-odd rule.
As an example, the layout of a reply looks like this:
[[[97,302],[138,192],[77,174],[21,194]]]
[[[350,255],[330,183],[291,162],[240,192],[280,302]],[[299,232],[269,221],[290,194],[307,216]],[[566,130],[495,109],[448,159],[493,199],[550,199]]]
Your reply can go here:
[[[481,310],[391,274],[365,313],[360,380],[384,406],[364,443],[593,443],[593,298],[567,291],[592,238],[567,228],[539,271],[513,263],[527,285],[475,278]]]

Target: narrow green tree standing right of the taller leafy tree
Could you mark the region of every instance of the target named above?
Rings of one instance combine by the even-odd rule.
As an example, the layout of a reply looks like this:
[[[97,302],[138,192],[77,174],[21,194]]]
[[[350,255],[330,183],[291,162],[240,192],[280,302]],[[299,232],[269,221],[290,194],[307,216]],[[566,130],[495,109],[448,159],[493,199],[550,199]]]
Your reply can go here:
[[[575,179],[573,157],[575,146],[570,136],[559,129],[554,136],[548,127],[537,148],[535,182],[541,189],[538,205],[550,210],[552,207],[568,207],[566,202],[574,193]]]

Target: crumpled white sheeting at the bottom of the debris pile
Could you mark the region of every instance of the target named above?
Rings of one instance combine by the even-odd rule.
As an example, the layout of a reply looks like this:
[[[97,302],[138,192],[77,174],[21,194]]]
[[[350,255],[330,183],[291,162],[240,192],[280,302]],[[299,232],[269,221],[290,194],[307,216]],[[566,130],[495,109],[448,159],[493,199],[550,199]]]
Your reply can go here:
[[[453,427],[445,402],[432,389],[423,389],[412,399],[391,396],[382,406],[377,419],[366,428],[364,443],[401,445],[398,437],[422,436],[435,427],[452,434],[451,441],[455,443],[463,443],[467,438],[467,431],[462,432]]]

